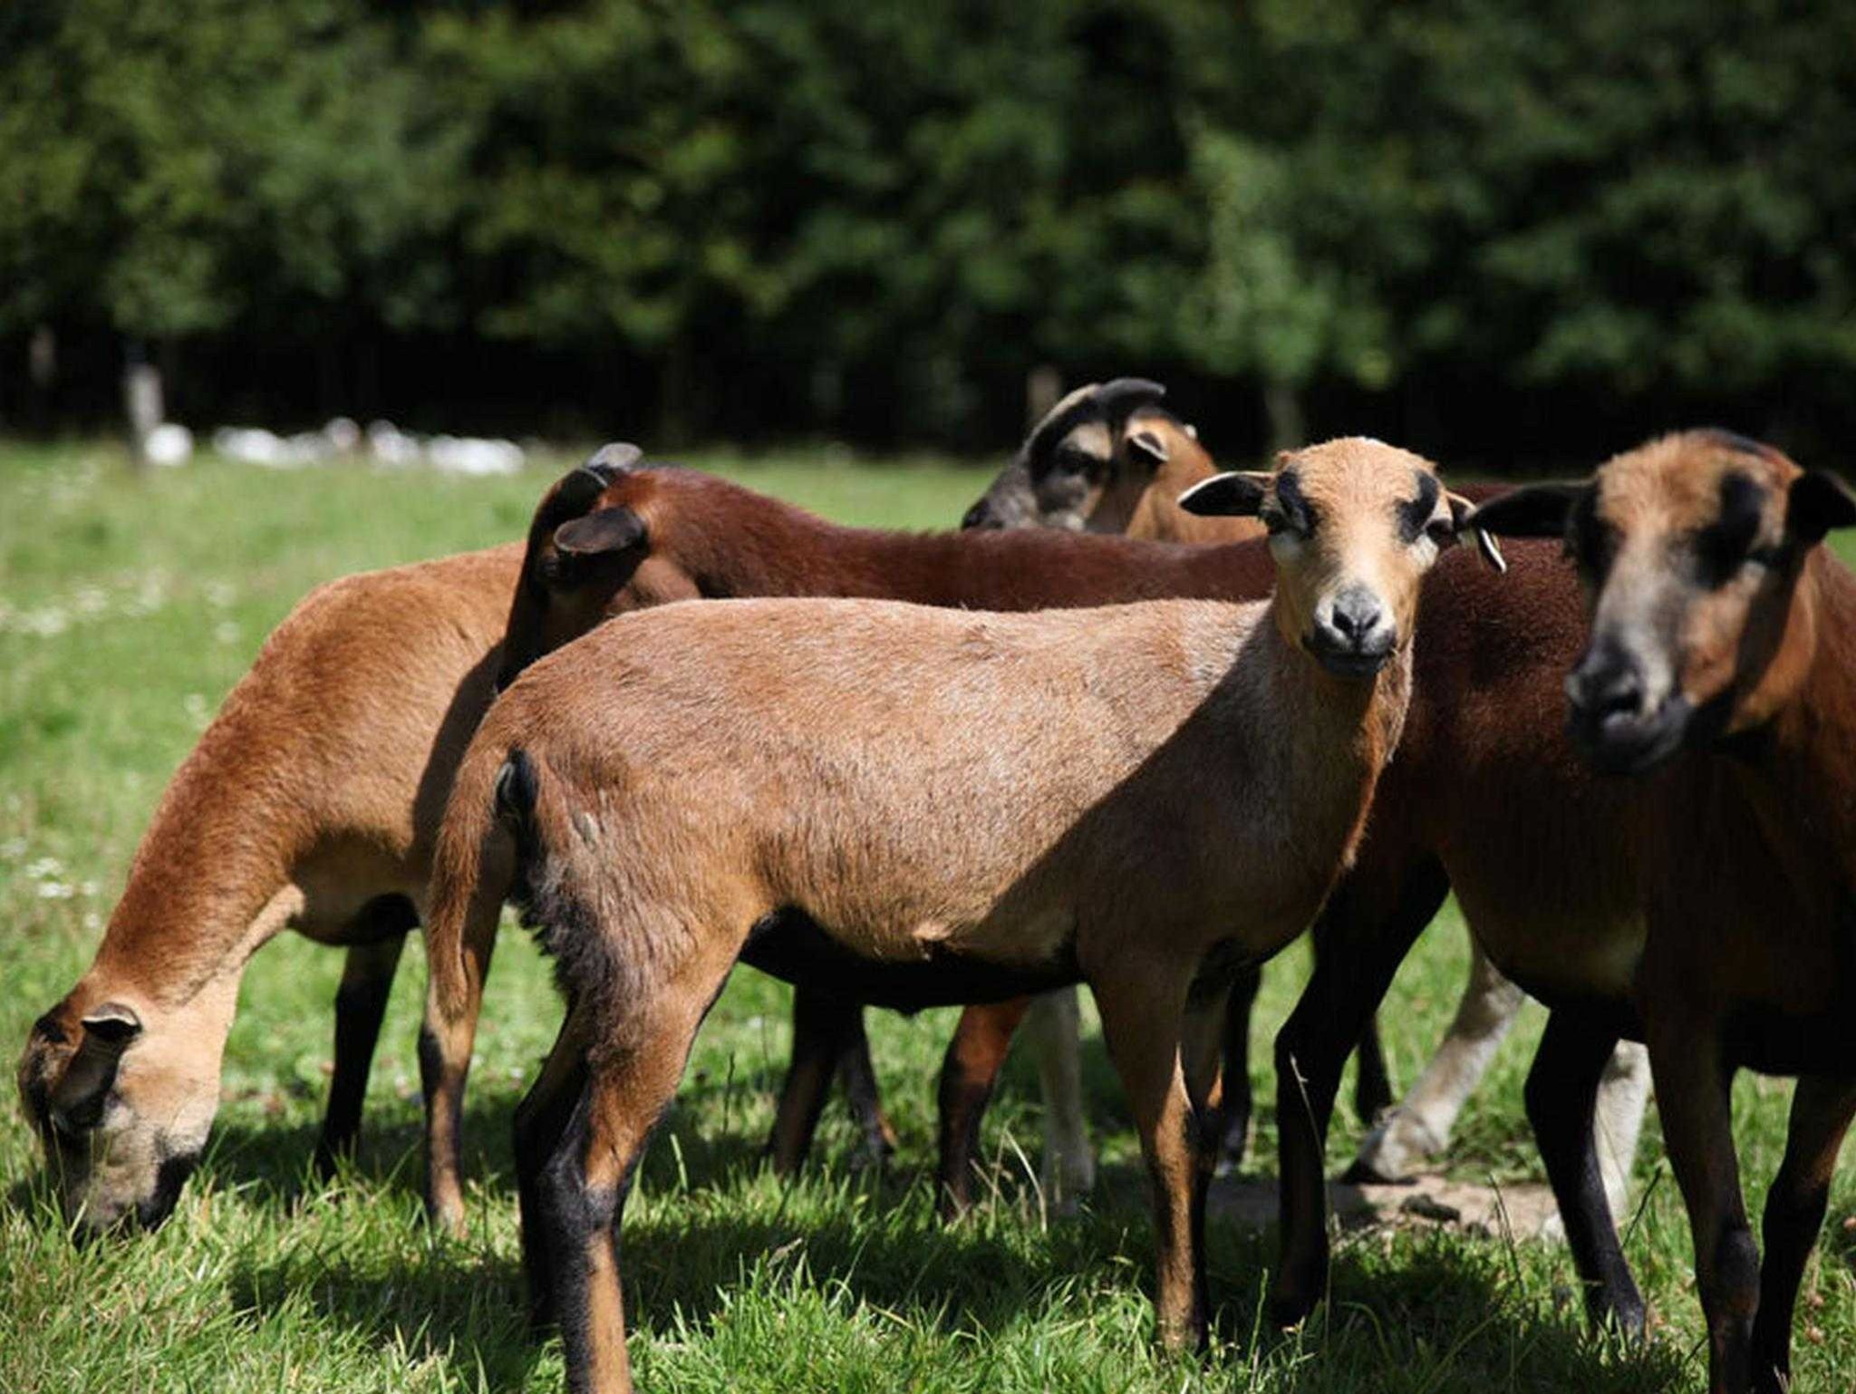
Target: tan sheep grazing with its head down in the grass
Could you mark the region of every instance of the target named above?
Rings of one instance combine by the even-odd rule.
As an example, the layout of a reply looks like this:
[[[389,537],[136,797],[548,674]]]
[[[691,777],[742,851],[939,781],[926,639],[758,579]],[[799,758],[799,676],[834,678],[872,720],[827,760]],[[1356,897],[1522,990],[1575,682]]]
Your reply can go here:
[[[284,928],[347,949],[317,1160],[353,1145],[520,566],[510,544],[319,587],[174,772],[91,967],[19,1065],[78,1233],[173,1210],[219,1108],[245,962]]]

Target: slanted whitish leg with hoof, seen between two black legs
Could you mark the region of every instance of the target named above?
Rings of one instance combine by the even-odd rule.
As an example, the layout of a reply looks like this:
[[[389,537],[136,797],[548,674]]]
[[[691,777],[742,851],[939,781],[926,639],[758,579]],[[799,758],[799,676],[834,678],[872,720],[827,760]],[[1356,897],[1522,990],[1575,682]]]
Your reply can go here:
[[[1405,1181],[1444,1151],[1496,1047],[1527,995],[1509,982],[1470,936],[1470,980],[1457,1015],[1418,1082],[1360,1143],[1349,1181]]]

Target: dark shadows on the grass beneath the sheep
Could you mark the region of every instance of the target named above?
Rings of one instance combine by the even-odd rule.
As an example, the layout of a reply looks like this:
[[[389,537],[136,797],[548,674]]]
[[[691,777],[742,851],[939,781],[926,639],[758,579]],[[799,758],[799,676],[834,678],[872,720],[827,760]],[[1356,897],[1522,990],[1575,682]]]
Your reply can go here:
[[[635,1203],[622,1249],[635,1329],[713,1329],[744,1283],[774,1301],[787,1284],[843,1292],[948,1336],[1039,1320],[1075,1288],[1140,1284],[1143,1301],[1151,1296],[1151,1223],[1138,1168],[1110,1169],[1091,1212],[1034,1234],[1012,1203],[937,1227],[928,1186],[898,1175],[802,1188],[791,1210],[781,1199],[744,1216],[705,1199],[757,1166],[739,1142],[702,1143],[676,1127],[657,1136],[642,1177],[650,1203],[642,1214]],[[1212,1362],[1257,1361],[1297,1388],[1463,1394],[1489,1387],[1622,1394],[1680,1387],[1693,1374],[1672,1346],[1628,1349],[1587,1335],[1578,1303],[1529,1294],[1500,1242],[1444,1233],[1405,1236],[1396,1249],[1342,1242],[1329,1303],[1290,1333],[1275,1331],[1264,1312],[1271,1260],[1273,1236],[1212,1225],[1214,1333],[1223,1351]],[[367,1342],[445,1361],[468,1385],[481,1370],[490,1388],[520,1387],[542,1359],[523,1318],[518,1262],[462,1246],[434,1246],[414,1268],[403,1251],[379,1262],[340,1251],[254,1257],[234,1279],[232,1299],[260,1316],[306,1301]]]

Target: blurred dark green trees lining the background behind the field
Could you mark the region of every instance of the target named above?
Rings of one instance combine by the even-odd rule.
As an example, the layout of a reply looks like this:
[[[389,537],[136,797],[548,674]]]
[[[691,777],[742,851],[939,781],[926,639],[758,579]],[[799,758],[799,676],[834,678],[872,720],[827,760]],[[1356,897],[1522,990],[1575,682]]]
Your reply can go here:
[[[19,0],[0,423],[332,412],[1485,468],[1856,425],[1856,7]]]

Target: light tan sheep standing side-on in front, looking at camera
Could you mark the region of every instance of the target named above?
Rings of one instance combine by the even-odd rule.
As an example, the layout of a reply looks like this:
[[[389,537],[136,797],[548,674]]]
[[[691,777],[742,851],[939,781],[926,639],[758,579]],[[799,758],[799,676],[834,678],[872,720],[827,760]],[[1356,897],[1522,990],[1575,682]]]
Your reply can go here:
[[[900,1006],[1088,982],[1154,1182],[1158,1333],[1205,1336],[1188,995],[1208,954],[1294,939],[1347,861],[1468,503],[1364,440],[1195,497],[1266,520],[1270,601],[676,605],[486,715],[434,863],[429,1021],[468,1030],[514,893],[568,1000],[516,1156],[572,1388],[629,1388],[624,1195],[737,958]]]

